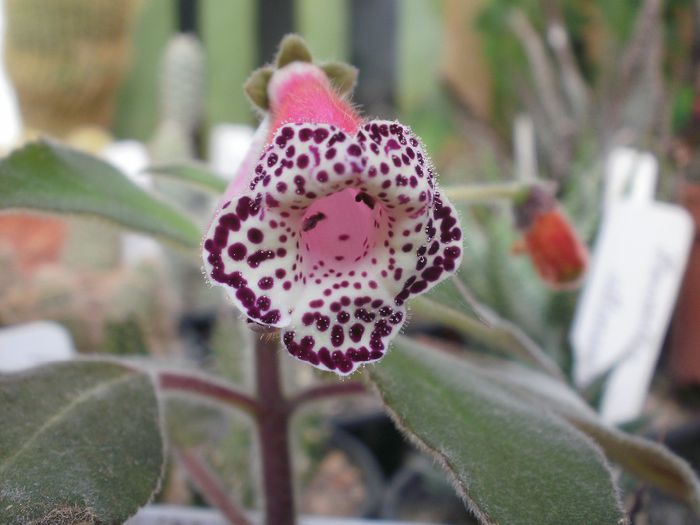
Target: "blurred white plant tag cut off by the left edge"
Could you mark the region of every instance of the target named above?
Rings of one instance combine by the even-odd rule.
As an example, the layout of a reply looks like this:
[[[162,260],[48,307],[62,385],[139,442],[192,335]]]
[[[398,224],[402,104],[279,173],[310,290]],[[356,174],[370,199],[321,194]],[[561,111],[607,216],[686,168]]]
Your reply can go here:
[[[0,374],[63,361],[75,356],[68,330],[52,321],[0,329]]]

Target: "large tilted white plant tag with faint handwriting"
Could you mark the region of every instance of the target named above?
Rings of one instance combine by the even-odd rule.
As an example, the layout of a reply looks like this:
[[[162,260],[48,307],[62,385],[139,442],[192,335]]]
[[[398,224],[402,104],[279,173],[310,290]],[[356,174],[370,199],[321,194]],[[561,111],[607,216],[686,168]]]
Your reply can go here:
[[[616,203],[604,216],[571,332],[575,380],[609,372],[601,414],[637,417],[663,343],[693,236],[682,208]]]

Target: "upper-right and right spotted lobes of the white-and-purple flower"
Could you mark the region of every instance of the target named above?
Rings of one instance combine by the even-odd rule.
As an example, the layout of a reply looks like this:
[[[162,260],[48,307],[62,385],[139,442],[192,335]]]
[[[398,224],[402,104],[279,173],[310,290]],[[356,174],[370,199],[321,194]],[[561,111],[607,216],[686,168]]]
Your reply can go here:
[[[390,272],[395,302],[401,305],[459,268],[462,231],[456,210],[437,190],[418,137],[397,122],[369,122],[363,131],[369,139],[365,187],[380,199],[390,220],[382,275]]]

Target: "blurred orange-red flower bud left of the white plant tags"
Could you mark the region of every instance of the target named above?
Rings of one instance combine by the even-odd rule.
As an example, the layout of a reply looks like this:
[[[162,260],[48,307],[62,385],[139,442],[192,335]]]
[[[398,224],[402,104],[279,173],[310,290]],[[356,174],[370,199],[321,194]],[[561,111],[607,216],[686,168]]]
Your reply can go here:
[[[535,186],[515,208],[523,233],[518,251],[530,255],[540,278],[557,290],[580,285],[588,266],[588,250],[554,197]]]

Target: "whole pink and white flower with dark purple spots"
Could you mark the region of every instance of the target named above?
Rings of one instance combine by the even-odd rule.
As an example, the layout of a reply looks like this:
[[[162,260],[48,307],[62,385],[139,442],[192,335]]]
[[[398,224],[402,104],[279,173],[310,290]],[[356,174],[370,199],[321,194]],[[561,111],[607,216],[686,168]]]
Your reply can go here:
[[[267,98],[266,145],[214,217],[205,268],[291,355],[349,374],[459,266],[457,215],[408,127],[363,121],[318,66],[274,71]]]

